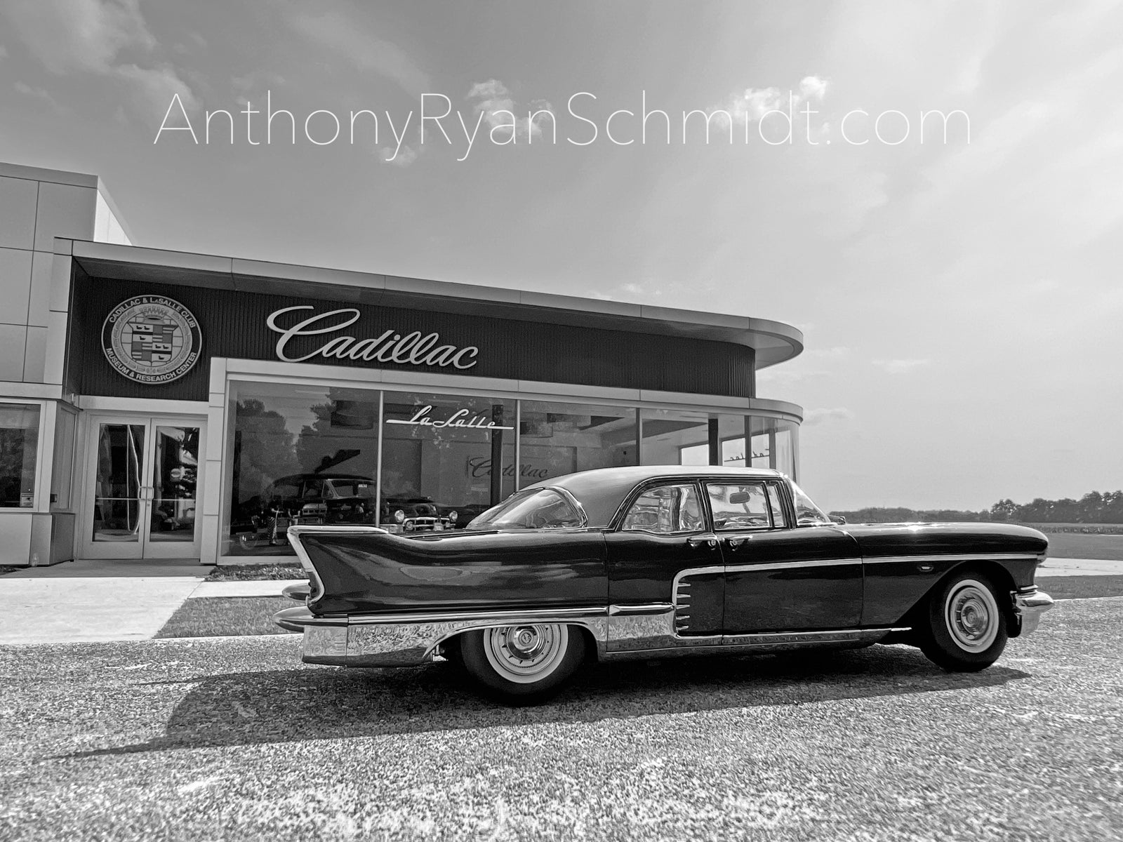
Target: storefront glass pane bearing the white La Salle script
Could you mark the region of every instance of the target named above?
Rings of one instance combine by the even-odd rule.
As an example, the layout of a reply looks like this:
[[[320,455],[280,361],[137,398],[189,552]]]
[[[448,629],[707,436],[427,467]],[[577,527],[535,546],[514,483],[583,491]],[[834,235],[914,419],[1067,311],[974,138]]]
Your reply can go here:
[[[382,523],[463,529],[515,488],[514,401],[386,392]]]

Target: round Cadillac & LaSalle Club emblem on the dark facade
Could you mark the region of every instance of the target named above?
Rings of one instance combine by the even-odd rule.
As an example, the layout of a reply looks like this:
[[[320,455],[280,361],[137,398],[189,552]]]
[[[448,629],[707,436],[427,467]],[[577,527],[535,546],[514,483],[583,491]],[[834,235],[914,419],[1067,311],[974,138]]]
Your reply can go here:
[[[202,345],[195,317],[163,295],[122,301],[101,327],[101,348],[109,365],[137,383],[179,379],[199,359]]]

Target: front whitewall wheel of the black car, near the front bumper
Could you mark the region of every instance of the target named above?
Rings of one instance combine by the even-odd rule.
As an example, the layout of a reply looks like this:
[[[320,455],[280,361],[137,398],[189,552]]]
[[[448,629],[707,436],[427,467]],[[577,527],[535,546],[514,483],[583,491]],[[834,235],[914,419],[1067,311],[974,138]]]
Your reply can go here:
[[[1006,617],[994,583],[977,570],[950,576],[929,600],[921,650],[944,669],[986,669],[1006,648]]]

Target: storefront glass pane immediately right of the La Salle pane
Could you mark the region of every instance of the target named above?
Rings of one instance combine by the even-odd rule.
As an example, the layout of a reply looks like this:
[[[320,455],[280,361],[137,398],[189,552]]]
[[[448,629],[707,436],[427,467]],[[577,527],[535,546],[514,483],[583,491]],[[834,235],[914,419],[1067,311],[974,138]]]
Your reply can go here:
[[[633,408],[523,401],[520,420],[520,487],[637,464]]]

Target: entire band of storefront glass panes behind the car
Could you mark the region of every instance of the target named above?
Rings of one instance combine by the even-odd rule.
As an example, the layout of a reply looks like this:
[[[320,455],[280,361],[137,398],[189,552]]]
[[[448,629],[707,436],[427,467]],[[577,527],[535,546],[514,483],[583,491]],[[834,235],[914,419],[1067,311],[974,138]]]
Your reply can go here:
[[[637,447],[633,406],[293,383],[232,382],[230,395],[223,555],[291,555],[296,524],[463,529],[563,474],[640,454],[646,465],[707,465],[711,440],[727,466],[794,476],[797,458],[793,422],[748,415],[645,409]]]

